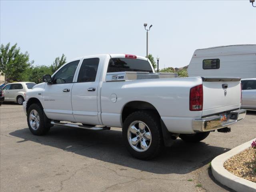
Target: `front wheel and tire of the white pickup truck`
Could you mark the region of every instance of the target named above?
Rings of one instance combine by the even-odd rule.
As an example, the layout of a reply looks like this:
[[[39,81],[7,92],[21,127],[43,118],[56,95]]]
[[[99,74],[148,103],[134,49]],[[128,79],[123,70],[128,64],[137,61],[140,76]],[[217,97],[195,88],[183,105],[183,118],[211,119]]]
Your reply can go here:
[[[40,105],[30,105],[27,114],[28,128],[32,134],[44,135],[50,130],[50,119],[46,117]]]

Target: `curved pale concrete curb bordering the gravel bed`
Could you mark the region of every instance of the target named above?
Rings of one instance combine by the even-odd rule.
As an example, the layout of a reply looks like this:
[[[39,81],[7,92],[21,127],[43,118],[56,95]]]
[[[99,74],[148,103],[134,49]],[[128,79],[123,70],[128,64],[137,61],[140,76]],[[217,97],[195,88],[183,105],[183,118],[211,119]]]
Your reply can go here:
[[[256,192],[256,183],[233,175],[223,166],[226,160],[249,148],[254,140],[255,138],[214,158],[211,162],[214,178],[237,192]]]

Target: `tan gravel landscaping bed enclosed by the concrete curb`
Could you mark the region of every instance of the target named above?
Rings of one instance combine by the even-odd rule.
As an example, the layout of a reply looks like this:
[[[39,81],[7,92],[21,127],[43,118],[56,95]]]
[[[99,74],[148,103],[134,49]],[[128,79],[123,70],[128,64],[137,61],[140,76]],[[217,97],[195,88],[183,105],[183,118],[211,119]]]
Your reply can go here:
[[[256,182],[256,149],[248,148],[224,163],[224,168],[232,174]]]

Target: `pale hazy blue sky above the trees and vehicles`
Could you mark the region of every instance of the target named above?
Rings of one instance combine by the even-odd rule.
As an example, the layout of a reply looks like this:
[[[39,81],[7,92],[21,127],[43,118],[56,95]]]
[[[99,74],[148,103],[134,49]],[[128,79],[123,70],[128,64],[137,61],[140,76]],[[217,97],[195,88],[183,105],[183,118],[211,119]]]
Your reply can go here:
[[[256,44],[256,8],[236,1],[1,1],[0,43],[18,43],[35,65],[104,53],[146,56],[160,68],[188,65],[195,49]]]

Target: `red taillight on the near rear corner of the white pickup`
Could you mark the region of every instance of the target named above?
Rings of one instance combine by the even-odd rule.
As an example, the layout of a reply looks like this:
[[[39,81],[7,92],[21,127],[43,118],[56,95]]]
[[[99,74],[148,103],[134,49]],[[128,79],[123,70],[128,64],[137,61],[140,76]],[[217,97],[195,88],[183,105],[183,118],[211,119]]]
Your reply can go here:
[[[189,95],[189,110],[201,111],[203,110],[203,85],[198,85],[190,89]]]

